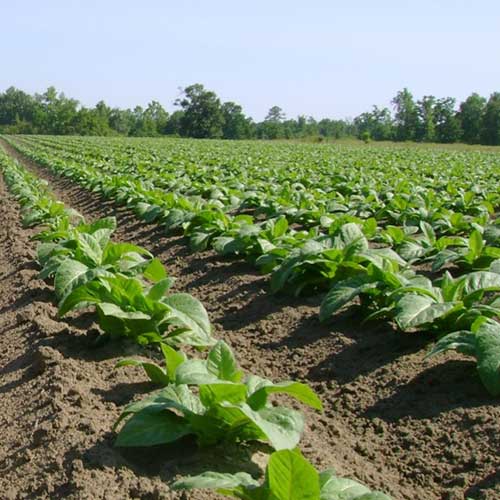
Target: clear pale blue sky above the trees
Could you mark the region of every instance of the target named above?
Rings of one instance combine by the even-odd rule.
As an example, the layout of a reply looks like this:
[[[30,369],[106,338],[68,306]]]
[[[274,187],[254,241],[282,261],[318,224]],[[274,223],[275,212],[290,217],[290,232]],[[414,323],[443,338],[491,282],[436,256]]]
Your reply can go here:
[[[0,90],[133,107],[203,83],[262,119],[500,91],[500,1],[1,2]]]

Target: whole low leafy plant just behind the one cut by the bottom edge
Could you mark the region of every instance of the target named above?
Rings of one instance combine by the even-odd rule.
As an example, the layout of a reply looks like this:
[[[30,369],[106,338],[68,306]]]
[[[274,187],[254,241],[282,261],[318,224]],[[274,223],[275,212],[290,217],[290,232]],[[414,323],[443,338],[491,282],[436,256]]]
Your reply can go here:
[[[146,368],[146,367],[145,367]],[[158,372],[155,370],[154,377]],[[300,382],[273,383],[244,377],[229,346],[219,341],[207,360],[172,359],[159,381],[173,381],[143,400],[128,405],[115,428],[117,446],[153,446],[193,435],[199,446],[224,441],[264,441],[279,450],[297,446],[304,427],[303,415],[269,401],[286,394],[317,410],[321,401]],[[189,386],[196,386],[193,391]]]

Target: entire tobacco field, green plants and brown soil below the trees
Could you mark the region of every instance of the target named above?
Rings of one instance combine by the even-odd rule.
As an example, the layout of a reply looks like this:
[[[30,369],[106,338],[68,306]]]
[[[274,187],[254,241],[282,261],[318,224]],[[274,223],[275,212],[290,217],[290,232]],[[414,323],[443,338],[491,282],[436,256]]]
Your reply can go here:
[[[5,498],[500,496],[500,154],[0,137]]]

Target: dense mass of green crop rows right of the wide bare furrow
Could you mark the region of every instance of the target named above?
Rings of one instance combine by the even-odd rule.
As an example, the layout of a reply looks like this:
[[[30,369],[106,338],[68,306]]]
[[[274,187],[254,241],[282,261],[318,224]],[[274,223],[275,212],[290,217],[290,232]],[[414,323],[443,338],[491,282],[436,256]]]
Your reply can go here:
[[[12,144],[145,222],[183,231],[193,250],[211,246],[247,259],[270,273],[274,293],[326,292],[322,321],[359,299],[365,321],[432,333],[438,342],[430,355],[455,349],[475,357],[487,390],[500,394],[494,157],[445,162],[432,153],[408,163],[392,151],[366,166],[367,158],[348,154],[347,167],[321,157],[306,176],[304,165],[287,170],[278,157],[270,159],[276,170],[208,145],[196,157],[200,146],[191,151],[186,141],[185,150],[175,142],[155,150],[151,141],[74,138]],[[290,152],[284,158],[303,161]]]

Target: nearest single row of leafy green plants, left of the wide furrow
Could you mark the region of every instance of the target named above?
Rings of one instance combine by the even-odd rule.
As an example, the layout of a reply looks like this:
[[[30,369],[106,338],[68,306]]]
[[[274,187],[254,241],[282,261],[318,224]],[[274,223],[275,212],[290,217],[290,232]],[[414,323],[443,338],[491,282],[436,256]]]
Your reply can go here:
[[[102,335],[98,342],[132,341],[157,348],[161,363],[125,359],[141,366],[161,388],[123,409],[115,428],[117,446],[153,446],[193,436],[199,446],[222,442],[267,443],[264,482],[250,475],[207,472],[177,481],[174,488],[215,488],[244,499],[383,500],[360,483],[318,473],[297,448],[303,414],[271,401],[286,394],[316,410],[322,405],[305,384],[273,383],[243,373],[228,344],[215,340],[208,315],[194,297],[172,293],[173,278],[146,249],[112,241],[116,220],[87,222],[57,201],[39,180],[0,151],[9,190],[22,207],[25,227],[39,226],[40,277],[53,284],[62,317],[93,307]],[[190,357],[194,346],[205,356]]]

